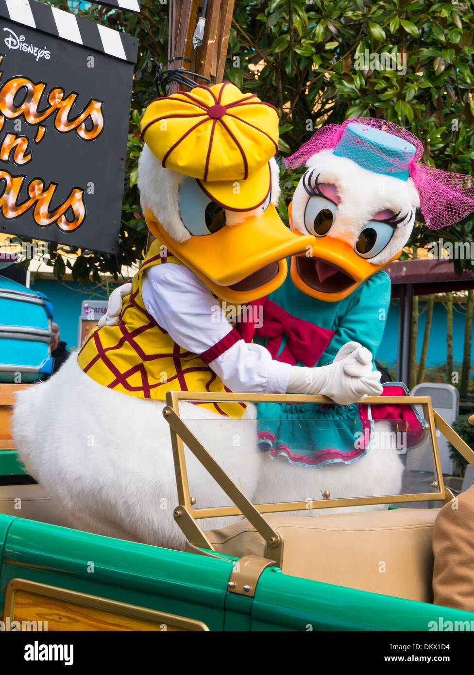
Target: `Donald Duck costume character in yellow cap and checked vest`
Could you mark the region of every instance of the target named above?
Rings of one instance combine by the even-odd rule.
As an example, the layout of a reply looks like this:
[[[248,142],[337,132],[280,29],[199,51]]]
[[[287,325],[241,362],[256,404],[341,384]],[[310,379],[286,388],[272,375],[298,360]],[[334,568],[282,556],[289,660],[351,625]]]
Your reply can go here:
[[[138,186],[155,240],[115,325],[97,327],[78,358],[18,396],[14,435],[28,472],[75,526],[181,547],[161,414],[166,391],[292,391],[350,404],[379,394],[380,375],[371,354],[354,344],[319,369],[275,360],[245,342],[223,311],[224,301],[237,311],[276,290],[286,257],[315,243],[313,234],[287,229],[275,208],[278,113],[271,105],[230,83],[196,86],[152,101],[142,138]],[[257,423],[242,456],[227,466],[225,454],[235,455],[232,437],[245,417],[255,419],[255,407],[185,403],[180,413],[211,452],[219,427],[211,421],[230,418],[217,439],[219,459],[253,496]],[[191,458],[188,469],[197,503],[219,504],[220,488],[201,465]]]

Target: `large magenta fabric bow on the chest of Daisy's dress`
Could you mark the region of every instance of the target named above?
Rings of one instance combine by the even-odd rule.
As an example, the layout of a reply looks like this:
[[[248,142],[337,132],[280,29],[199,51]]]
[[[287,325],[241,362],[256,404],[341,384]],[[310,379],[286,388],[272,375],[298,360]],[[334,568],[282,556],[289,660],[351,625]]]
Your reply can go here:
[[[242,338],[246,342],[251,342],[254,335],[269,338],[266,347],[271,357],[292,366],[299,361],[307,368],[313,368],[336,333],[305,319],[292,317],[268,298],[254,300],[248,304],[261,306],[259,309],[263,311],[263,325],[256,327],[255,323],[249,321],[238,324]],[[287,336],[288,342],[277,357],[284,335]]]

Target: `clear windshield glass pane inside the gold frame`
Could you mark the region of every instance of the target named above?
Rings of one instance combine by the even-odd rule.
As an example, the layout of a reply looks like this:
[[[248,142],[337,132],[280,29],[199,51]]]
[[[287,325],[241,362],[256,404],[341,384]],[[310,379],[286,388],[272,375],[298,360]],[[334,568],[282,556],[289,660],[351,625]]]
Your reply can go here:
[[[403,506],[423,507],[440,489],[421,406],[250,403],[240,419],[204,420],[203,408],[193,416],[185,405],[183,421],[253,504],[305,502],[311,512],[318,502],[403,494]],[[232,506],[211,477],[198,492],[204,469],[186,446],[185,456],[195,508]]]

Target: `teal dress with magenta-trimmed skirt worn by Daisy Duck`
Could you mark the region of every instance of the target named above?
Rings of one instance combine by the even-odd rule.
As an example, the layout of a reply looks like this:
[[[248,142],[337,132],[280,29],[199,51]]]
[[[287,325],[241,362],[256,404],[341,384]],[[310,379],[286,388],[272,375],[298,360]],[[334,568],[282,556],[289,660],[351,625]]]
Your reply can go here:
[[[340,348],[352,340],[360,342],[375,359],[390,304],[390,277],[377,271],[338,302],[311,298],[288,277],[269,299],[297,319],[335,331],[315,367],[332,363]],[[268,340],[255,338],[255,342],[265,345]],[[287,342],[287,336],[283,335],[277,359]],[[302,364],[297,361],[296,365]],[[261,403],[258,420],[260,448],[271,450],[273,458],[284,454],[291,462],[305,466],[348,464],[369,449],[362,448],[361,452],[361,448],[354,448],[354,439],[364,433],[357,404]]]

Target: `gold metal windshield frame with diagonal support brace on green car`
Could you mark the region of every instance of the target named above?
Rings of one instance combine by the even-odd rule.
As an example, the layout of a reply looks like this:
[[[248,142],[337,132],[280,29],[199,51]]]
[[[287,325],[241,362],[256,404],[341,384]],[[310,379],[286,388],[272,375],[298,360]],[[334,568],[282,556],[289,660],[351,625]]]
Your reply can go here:
[[[176,487],[178,489],[178,507],[174,511],[176,522],[186,535],[188,541],[196,547],[213,549],[203,531],[199,528],[196,520],[201,518],[219,518],[222,516],[245,516],[255,529],[263,536],[265,541],[273,548],[280,547],[280,538],[271,529],[262,514],[284,511],[307,510],[307,500],[302,502],[273,502],[271,504],[252,504],[242,493],[235,483],[223,471],[221,466],[208,452],[207,448],[196,438],[194,433],[180,418],[180,402],[277,402],[277,403],[333,403],[326,396],[312,396],[301,394],[211,394],[208,392],[192,391],[167,391],[167,406],[163,410],[163,416],[169,423],[172,438],[174,467],[176,472]],[[400,404],[400,396],[371,396],[362,401],[364,404]],[[436,491],[415,494],[380,495],[377,497],[346,497],[344,499],[314,499],[313,508],[340,508],[345,506],[367,506],[373,504],[404,504],[406,502],[437,502],[443,504],[452,499],[453,495],[444,485],[440,452],[436,437],[436,428],[456,447],[469,464],[474,466],[474,452],[444,421],[433,411],[429,396],[404,396],[404,404],[418,405],[423,408],[423,418],[431,440],[431,448],[434,458],[435,487]],[[184,455],[184,444],[203,464],[211,477],[228,494],[234,506],[221,506],[211,508],[194,508],[195,501],[190,495],[188,472]],[[272,551],[273,557],[277,551]]]

